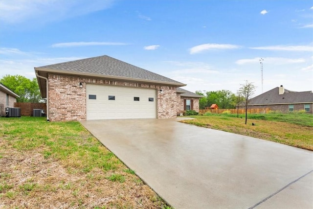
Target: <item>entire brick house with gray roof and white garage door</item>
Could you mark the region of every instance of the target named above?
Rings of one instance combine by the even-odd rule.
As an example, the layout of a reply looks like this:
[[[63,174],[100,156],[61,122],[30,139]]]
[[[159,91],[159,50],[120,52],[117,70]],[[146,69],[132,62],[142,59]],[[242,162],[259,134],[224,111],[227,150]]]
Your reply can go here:
[[[183,107],[177,88],[185,84],[106,55],[35,72],[51,121],[173,118]],[[188,98],[199,111],[199,99]]]

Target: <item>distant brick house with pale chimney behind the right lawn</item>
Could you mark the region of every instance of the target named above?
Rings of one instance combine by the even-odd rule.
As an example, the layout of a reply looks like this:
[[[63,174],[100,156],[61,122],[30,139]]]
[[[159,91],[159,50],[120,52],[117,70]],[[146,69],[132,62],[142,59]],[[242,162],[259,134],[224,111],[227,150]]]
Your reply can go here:
[[[270,108],[272,111],[305,111],[313,114],[313,93],[289,91],[281,85],[249,101],[248,108]]]

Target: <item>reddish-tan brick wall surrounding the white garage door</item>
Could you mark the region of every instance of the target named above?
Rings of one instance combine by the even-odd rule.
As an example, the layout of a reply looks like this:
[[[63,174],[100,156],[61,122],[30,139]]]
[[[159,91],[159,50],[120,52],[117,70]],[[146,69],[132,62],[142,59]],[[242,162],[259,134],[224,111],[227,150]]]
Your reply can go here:
[[[83,83],[83,88],[79,87],[80,82]],[[156,90],[162,89],[163,93],[157,91],[157,118],[176,117],[178,105],[176,87],[49,74],[48,96],[50,121],[86,120],[87,83],[149,88]]]

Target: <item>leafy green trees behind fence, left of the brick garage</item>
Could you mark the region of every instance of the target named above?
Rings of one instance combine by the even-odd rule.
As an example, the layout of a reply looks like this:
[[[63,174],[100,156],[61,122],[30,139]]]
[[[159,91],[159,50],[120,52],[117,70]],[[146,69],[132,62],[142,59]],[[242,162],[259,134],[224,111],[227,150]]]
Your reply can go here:
[[[42,100],[37,79],[32,80],[22,75],[5,75],[0,82],[18,94],[17,102],[40,102]]]

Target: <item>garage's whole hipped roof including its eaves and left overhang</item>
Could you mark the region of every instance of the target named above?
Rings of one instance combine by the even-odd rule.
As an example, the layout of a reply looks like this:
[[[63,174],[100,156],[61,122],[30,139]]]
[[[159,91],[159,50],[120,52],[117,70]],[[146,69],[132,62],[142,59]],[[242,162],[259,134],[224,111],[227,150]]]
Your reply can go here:
[[[153,84],[165,84],[177,87],[186,86],[185,84],[173,79],[148,70],[144,70],[142,68],[138,68],[134,65],[117,60],[107,55],[37,67],[35,68],[35,71],[43,77],[47,77],[47,73],[56,73]],[[38,77],[38,83],[42,95],[45,95],[45,79]]]

